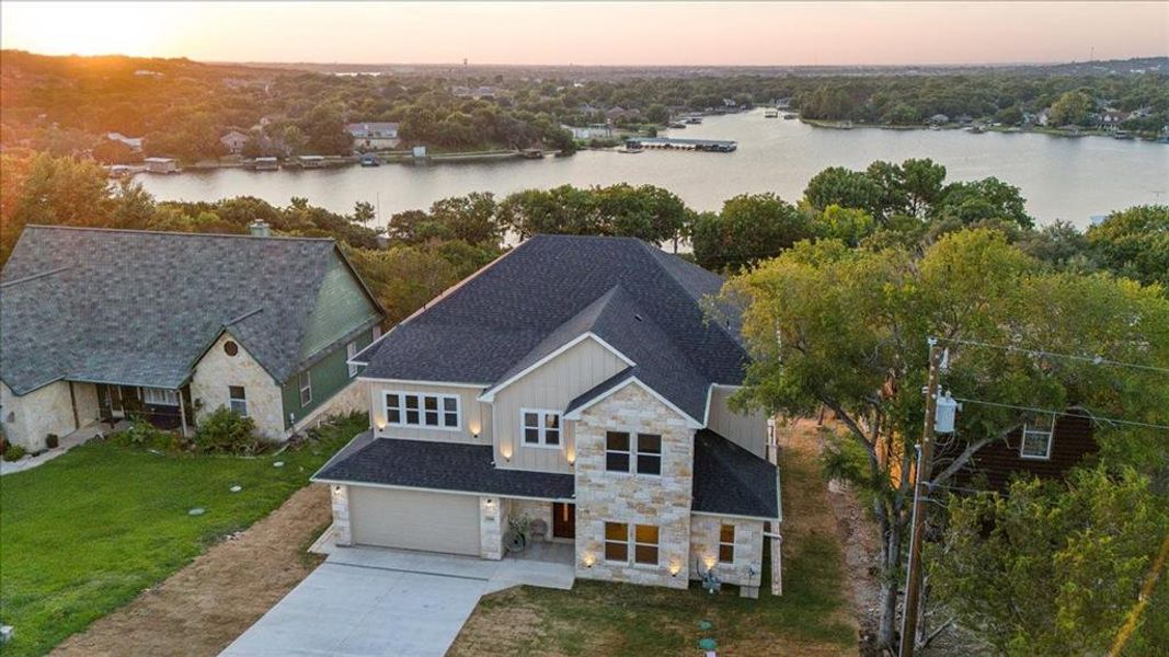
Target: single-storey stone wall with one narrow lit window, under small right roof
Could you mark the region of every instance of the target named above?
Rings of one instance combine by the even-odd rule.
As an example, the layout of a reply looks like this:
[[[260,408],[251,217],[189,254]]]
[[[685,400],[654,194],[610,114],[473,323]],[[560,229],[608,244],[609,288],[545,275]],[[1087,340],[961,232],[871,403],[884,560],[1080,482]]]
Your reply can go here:
[[[721,525],[734,525],[735,528],[733,563],[719,561]],[[690,579],[700,580],[712,566],[724,583],[742,587],[746,597],[758,597],[763,578],[763,521],[693,516],[690,520]]]

